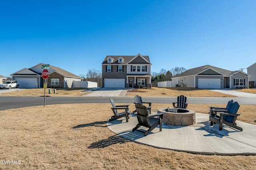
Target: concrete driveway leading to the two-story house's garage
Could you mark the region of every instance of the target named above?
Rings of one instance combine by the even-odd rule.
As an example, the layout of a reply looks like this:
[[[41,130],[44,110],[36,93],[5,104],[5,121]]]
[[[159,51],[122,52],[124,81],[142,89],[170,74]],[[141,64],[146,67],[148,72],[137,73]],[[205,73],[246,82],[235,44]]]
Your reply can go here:
[[[84,96],[93,96],[93,97],[117,97],[117,96],[126,96],[128,88],[100,88],[96,91],[92,91]]]

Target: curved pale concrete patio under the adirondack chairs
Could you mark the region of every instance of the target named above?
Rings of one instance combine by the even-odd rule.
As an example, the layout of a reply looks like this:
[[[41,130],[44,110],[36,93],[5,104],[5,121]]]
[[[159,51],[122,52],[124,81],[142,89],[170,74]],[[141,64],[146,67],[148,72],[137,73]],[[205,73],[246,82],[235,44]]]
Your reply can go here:
[[[154,113],[152,113],[154,114]],[[107,122],[114,133],[134,141],[157,148],[172,149],[197,154],[256,155],[256,125],[236,121],[243,131],[218,124],[210,126],[209,115],[196,113],[196,124],[191,126],[162,125],[162,132],[156,127],[146,137],[138,131],[132,132],[138,123],[130,115],[129,122],[121,118]]]

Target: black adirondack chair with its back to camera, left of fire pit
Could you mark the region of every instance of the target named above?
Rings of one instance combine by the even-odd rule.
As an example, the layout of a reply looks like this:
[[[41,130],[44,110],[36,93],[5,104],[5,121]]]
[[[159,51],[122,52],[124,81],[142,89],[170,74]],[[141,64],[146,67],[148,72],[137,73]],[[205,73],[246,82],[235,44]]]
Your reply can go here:
[[[159,125],[160,132],[162,131],[162,119],[164,113],[158,113],[155,115],[148,115],[146,106],[140,103],[135,104],[137,110],[138,124],[132,129],[132,131],[139,131],[144,133],[144,136],[148,135],[155,127]],[[149,128],[147,131],[138,129],[140,126]]]

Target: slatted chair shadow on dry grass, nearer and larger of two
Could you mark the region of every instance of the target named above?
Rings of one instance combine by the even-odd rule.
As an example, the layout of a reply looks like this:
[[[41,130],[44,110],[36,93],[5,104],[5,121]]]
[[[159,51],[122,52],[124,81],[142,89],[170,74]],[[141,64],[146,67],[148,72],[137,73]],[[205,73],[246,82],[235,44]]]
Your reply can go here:
[[[115,145],[118,143],[126,143],[126,142],[130,142],[130,140],[124,139],[120,135],[113,135],[108,139],[103,139],[101,141],[92,143],[88,148],[89,149],[105,148],[111,145]]]

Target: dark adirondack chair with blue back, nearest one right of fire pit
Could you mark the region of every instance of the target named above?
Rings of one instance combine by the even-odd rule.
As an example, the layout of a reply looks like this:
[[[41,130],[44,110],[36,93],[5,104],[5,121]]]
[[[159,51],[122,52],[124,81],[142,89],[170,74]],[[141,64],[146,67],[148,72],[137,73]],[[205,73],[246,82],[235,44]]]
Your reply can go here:
[[[238,115],[240,115],[239,113],[237,113],[240,105],[238,104],[238,102],[234,102],[232,104],[230,104],[231,106],[229,106],[228,108],[228,112],[218,112],[220,115],[210,115],[210,125],[213,125],[213,122],[218,123],[219,124],[219,130],[222,130],[222,125],[228,125],[230,127],[234,127],[235,129],[238,129],[240,131],[243,131],[242,127],[238,127],[236,125],[236,118]]]

